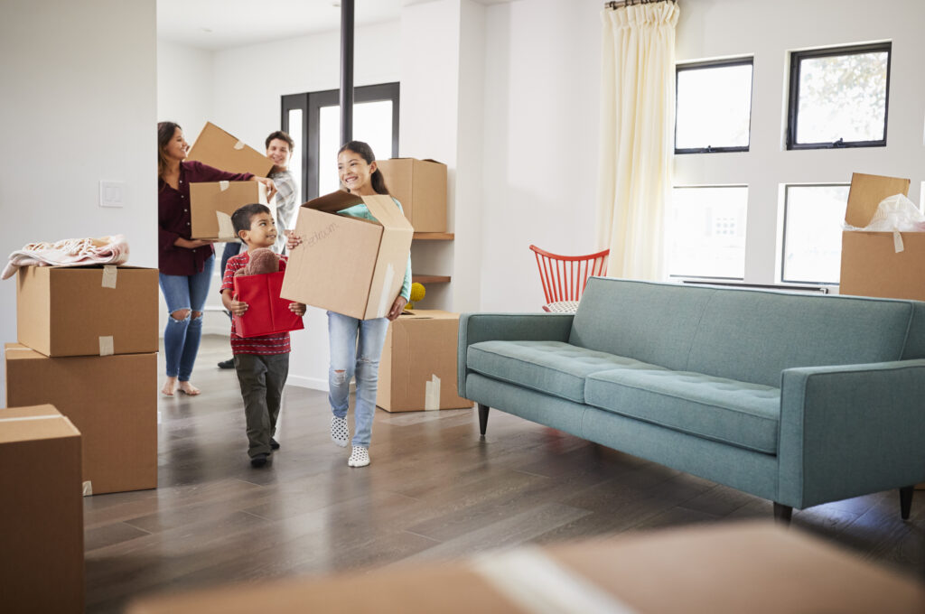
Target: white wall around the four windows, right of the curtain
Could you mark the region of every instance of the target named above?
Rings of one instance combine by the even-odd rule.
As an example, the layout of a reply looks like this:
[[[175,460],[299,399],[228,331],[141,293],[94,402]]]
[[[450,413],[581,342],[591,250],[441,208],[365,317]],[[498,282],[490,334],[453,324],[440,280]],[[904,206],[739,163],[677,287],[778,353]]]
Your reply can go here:
[[[776,281],[779,186],[848,182],[853,171],[912,179],[919,202],[925,178],[925,3],[884,0],[697,0],[682,4],[679,62],[754,55],[750,151],[675,158],[678,184],[748,185],[746,281]],[[788,52],[820,46],[893,41],[887,146],[844,150],[784,149]]]

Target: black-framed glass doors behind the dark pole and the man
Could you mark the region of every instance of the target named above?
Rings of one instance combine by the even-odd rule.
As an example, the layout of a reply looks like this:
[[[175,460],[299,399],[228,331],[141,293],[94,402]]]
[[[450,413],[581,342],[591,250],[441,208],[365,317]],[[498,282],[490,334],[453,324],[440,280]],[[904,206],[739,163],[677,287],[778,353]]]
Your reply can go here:
[[[296,143],[291,168],[301,179],[302,201],[339,188],[339,102],[338,90],[282,97],[282,126]],[[376,157],[399,154],[398,83],[353,89],[353,138],[368,142]]]

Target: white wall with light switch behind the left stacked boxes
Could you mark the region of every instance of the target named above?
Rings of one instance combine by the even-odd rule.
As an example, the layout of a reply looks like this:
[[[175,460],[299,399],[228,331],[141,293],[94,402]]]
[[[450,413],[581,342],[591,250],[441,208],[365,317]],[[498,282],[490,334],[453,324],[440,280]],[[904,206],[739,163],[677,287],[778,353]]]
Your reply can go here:
[[[121,233],[129,264],[157,266],[155,23],[154,0],[4,0],[6,252],[34,240]],[[98,206],[101,179],[125,182],[124,208]],[[0,282],[0,313],[0,340],[15,341],[13,280]]]

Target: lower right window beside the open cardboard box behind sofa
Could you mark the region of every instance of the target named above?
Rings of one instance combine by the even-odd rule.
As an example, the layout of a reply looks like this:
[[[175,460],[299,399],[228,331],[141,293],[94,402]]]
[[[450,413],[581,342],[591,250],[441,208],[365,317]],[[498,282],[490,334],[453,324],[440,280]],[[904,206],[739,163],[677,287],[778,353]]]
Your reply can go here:
[[[838,283],[848,189],[847,185],[785,186],[784,283]]]

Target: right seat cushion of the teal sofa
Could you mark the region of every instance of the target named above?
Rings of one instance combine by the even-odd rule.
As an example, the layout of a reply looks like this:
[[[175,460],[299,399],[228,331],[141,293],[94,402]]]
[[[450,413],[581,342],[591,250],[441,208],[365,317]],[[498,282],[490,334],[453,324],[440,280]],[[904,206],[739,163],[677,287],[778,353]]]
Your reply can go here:
[[[586,402],[676,431],[777,453],[780,388],[664,369],[589,375]]]

